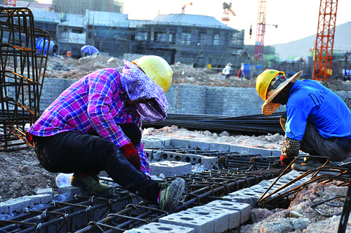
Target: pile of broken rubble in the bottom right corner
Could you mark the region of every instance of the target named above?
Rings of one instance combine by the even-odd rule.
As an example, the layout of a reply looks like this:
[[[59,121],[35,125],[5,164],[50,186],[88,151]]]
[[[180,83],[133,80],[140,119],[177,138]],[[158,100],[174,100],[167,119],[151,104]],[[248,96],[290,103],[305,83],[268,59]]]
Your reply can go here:
[[[343,211],[345,202],[343,197],[346,196],[347,187],[336,185],[338,182],[335,181],[328,184],[314,182],[296,195],[288,209],[277,208],[270,211],[264,208],[255,208],[251,211],[253,224],[241,227],[240,233],[338,232],[340,214],[337,214]],[[326,201],[338,196],[343,197]],[[312,204],[318,204],[322,201],[326,202],[313,208]],[[350,230],[349,224],[347,232]]]

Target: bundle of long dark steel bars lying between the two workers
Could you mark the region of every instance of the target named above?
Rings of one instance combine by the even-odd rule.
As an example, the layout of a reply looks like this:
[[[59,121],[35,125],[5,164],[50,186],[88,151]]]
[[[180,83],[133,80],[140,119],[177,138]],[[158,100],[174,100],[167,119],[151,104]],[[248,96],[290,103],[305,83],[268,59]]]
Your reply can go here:
[[[227,131],[241,134],[284,134],[279,118],[284,112],[276,112],[270,116],[263,114],[249,116],[220,116],[205,114],[168,114],[164,121],[150,123],[143,121],[143,128],[162,128],[178,126],[197,130]]]

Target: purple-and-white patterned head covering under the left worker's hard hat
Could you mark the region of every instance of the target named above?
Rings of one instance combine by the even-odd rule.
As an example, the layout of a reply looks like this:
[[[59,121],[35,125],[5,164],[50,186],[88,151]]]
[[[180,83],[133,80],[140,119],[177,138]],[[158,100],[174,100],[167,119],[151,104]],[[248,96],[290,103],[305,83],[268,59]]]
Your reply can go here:
[[[129,99],[150,100],[147,103],[136,104],[136,108],[145,121],[163,121],[166,116],[168,102],[164,90],[150,79],[139,67],[124,60],[121,74],[121,85]]]

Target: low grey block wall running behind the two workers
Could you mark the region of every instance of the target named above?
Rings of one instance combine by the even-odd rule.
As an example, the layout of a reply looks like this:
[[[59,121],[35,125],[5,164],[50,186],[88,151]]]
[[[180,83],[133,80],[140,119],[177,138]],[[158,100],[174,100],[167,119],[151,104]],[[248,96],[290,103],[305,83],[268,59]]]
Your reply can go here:
[[[41,93],[40,108],[46,109],[75,79],[46,78]],[[336,91],[341,99],[351,98],[350,91]],[[261,114],[263,100],[256,88],[227,88],[222,86],[172,85],[166,92],[169,113],[216,114],[244,116]],[[277,111],[285,111],[279,107]]]

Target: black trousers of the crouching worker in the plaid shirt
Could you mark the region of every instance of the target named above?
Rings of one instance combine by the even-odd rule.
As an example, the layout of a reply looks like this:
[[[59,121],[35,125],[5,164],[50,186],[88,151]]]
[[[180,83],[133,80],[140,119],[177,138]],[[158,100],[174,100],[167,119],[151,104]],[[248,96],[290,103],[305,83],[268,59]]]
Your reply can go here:
[[[157,204],[158,183],[138,171],[121,151],[105,138],[68,131],[50,137],[34,136],[33,145],[41,166],[47,171],[79,171],[86,175],[106,171],[121,187]]]

